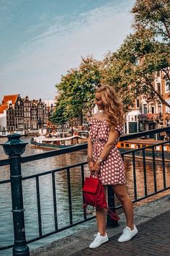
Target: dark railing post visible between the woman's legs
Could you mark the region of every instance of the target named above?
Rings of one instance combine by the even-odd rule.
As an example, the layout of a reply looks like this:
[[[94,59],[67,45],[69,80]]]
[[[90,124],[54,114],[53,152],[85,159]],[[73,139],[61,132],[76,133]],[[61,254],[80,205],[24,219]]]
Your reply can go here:
[[[107,201],[108,208],[115,213],[115,195],[111,185],[107,185],[107,200],[108,200]],[[107,214],[107,226],[110,226],[110,227],[118,226],[118,221],[115,221],[114,219],[112,219],[109,216],[109,214]]]

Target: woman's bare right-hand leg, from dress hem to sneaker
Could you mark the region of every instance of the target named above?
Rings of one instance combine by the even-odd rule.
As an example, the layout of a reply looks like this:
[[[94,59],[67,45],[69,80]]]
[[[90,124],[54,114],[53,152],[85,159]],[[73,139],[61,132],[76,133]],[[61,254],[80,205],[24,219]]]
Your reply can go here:
[[[127,226],[133,230],[134,221],[133,221],[133,202],[127,193],[125,184],[116,184],[112,186],[113,191],[115,192],[116,197],[122,203],[123,210],[125,212]]]

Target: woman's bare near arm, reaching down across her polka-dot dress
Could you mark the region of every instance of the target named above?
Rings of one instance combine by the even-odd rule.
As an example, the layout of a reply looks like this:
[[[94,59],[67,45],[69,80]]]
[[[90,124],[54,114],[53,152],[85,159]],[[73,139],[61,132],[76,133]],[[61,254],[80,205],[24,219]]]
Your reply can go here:
[[[107,155],[109,155],[110,150],[112,150],[112,146],[115,144],[115,141],[119,137],[119,132],[115,130],[111,130],[109,132],[109,137],[104,145],[104,148],[102,150],[102,153],[99,155],[99,158],[97,159],[96,163],[94,164],[94,168],[92,169],[93,171],[99,172],[101,162],[104,161],[105,158],[107,158]],[[100,160],[100,161],[99,161]]]

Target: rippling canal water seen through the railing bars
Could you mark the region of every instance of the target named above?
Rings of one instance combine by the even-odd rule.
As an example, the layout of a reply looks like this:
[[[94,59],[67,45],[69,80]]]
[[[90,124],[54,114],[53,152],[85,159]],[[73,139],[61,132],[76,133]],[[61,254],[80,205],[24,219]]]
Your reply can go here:
[[[30,142],[30,137],[22,137],[24,142]],[[0,138],[0,143],[6,142],[6,138]],[[47,149],[32,148],[32,145],[28,144],[23,155],[32,155],[37,153],[43,153]],[[7,156],[4,153],[3,148],[0,146],[0,160],[5,159]],[[76,153],[69,153],[66,155],[55,156],[53,158],[45,158],[40,161],[32,161],[22,164],[22,176],[30,176],[45,171],[54,170],[61,166],[69,166],[74,163],[80,163],[86,161],[86,151],[79,151]],[[136,159],[136,183],[138,197],[144,196],[144,175],[143,165],[140,159]],[[134,198],[134,186],[133,186],[133,163],[131,158],[125,158],[126,179],[127,187],[130,197]],[[85,174],[88,175],[88,167],[85,166]],[[151,193],[154,191],[153,183],[153,163],[147,161],[146,163],[146,175],[147,175],[147,191]],[[2,166],[0,170],[0,181],[9,179],[9,166]],[[69,208],[68,208],[68,187],[66,171],[61,171],[55,174],[56,182],[56,197],[58,203],[58,228],[62,228],[69,224]],[[164,187],[163,184],[163,168],[161,161],[156,162],[156,182],[157,189]],[[166,184],[170,186],[170,163],[166,163]],[[38,219],[37,219],[37,198],[36,198],[36,186],[35,179],[26,179],[23,181],[23,199],[24,199],[24,217],[25,217],[25,229],[27,234],[27,240],[33,239],[38,236]],[[73,221],[79,221],[83,218],[82,195],[81,195],[81,170],[80,168],[71,169],[71,199],[73,207]],[[54,230],[54,217],[53,217],[53,191],[51,175],[45,175],[40,177],[40,203],[42,213],[42,234],[48,233]],[[12,244],[14,240],[13,226],[12,226],[12,202],[11,202],[11,189],[10,184],[0,184],[0,246]],[[91,225],[90,223],[81,224],[81,226],[75,226],[72,229],[67,229],[53,236],[48,236],[45,239],[29,244],[30,249],[35,249],[49,242],[53,242],[56,239],[60,239],[63,236],[73,234],[74,231],[83,229],[84,227]],[[6,251],[0,251],[0,255],[7,256],[12,254],[12,249]]]

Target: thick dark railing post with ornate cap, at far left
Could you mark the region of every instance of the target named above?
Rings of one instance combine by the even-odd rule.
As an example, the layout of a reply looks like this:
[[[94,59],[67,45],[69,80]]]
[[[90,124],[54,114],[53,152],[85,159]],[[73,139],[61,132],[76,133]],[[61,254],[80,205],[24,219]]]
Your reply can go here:
[[[21,155],[24,153],[27,143],[20,140],[20,135],[8,135],[8,141],[1,144],[6,155],[9,155],[10,180],[12,190],[12,214],[14,226],[13,256],[29,256],[30,249],[27,246],[24,229],[24,207],[22,197],[22,171]]]

